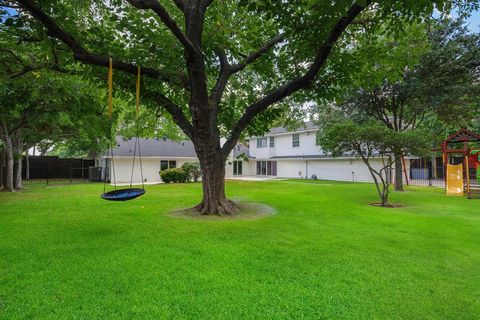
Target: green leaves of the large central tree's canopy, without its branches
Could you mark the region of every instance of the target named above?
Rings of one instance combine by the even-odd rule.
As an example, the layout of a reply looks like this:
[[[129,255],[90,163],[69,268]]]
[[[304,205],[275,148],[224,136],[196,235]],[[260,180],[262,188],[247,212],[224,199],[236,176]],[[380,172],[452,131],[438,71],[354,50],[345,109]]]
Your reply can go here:
[[[37,3],[90,52],[159,70],[167,78],[188,79],[183,47],[153,10],[139,10],[123,0],[37,0]],[[185,32],[183,12],[173,1],[160,3]],[[285,41],[231,77],[219,106],[218,126],[222,134],[228,135],[247,106],[305,74],[333,25],[353,4],[368,8],[335,44],[316,81],[308,90],[288,97],[257,116],[248,127],[249,132],[267,130],[269,124],[289,113],[289,109],[300,110],[305,102],[339,99],[345,85],[361,83],[366,87],[384,79],[401,81],[398,66],[413,67],[428,50],[424,39],[432,13],[446,13],[455,7],[460,14],[468,14],[478,8],[479,1],[213,1],[206,11],[201,43],[210,90],[219,74],[219,51],[225,53],[230,64],[235,64],[273,37],[285,34]],[[20,11],[4,24],[33,26],[31,20]],[[403,37],[406,34],[408,43]],[[66,47],[59,47],[58,51],[65,54]],[[86,69],[91,72],[89,75],[102,80],[105,77],[104,69]],[[133,92],[134,80],[130,74],[116,72],[114,77],[117,90]],[[156,94],[161,92],[191,120],[190,92],[181,81],[148,79],[144,82],[142,101],[151,111],[150,119],[166,114],[156,101]]]

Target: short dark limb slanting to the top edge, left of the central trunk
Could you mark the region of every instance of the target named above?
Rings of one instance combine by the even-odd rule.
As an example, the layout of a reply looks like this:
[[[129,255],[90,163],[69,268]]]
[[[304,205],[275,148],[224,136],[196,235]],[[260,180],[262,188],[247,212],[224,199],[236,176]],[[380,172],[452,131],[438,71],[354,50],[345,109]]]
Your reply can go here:
[[[127,0],[132,6],[137,9],[150,9],[153,10],[167,26],[173,35],[180,41],[187,51],[191,53],[200,53],[200,49],[197,48],[188,37],[180,30],[175,20],[169,15],[167,10],[157,0]],[[185,10],[185,3],[183,1],[176,0],[175,4],[180,5]]]

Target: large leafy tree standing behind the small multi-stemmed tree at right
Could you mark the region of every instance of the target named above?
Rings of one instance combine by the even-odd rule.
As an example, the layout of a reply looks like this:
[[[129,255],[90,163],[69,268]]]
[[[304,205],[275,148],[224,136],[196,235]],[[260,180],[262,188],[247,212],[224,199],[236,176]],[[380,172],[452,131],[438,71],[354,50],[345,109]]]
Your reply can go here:
[[[397,37],[366,37],[357,52],[366,63],[338,107],[352,119],[375,120],[397,133],[470,125],[480,102],[480,35],[462,22],[432,21]],[[419,141],[423,132],[417,132]],[[392,144],[392,151],[395,190],[403,191],[405,150]]]

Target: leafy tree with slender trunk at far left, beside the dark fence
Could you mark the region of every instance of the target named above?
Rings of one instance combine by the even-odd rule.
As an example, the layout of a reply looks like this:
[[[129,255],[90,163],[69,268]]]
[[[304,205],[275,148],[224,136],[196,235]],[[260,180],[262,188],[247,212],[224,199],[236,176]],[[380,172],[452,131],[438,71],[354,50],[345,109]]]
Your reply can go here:
[[[95,144],[100,144],[98,139],[102,137],[106,139],[109,121],[102,116],[102,102],[102,93],[94,85],[48,70],[0,80],[0,138],[7,163],[5,189],[22,188],[22,155],[28,146],[42,139],[82,140],[82,135],[89,135]]]

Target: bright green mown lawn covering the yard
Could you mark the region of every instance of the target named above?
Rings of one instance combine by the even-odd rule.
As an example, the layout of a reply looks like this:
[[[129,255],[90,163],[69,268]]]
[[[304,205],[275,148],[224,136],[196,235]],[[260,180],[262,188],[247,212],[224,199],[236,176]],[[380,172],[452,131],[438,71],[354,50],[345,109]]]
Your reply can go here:
[[[199,221],[199,184],[0,194],[2,319],[478,319],[480,200],[372,185],[229,182],[276,215]]]

